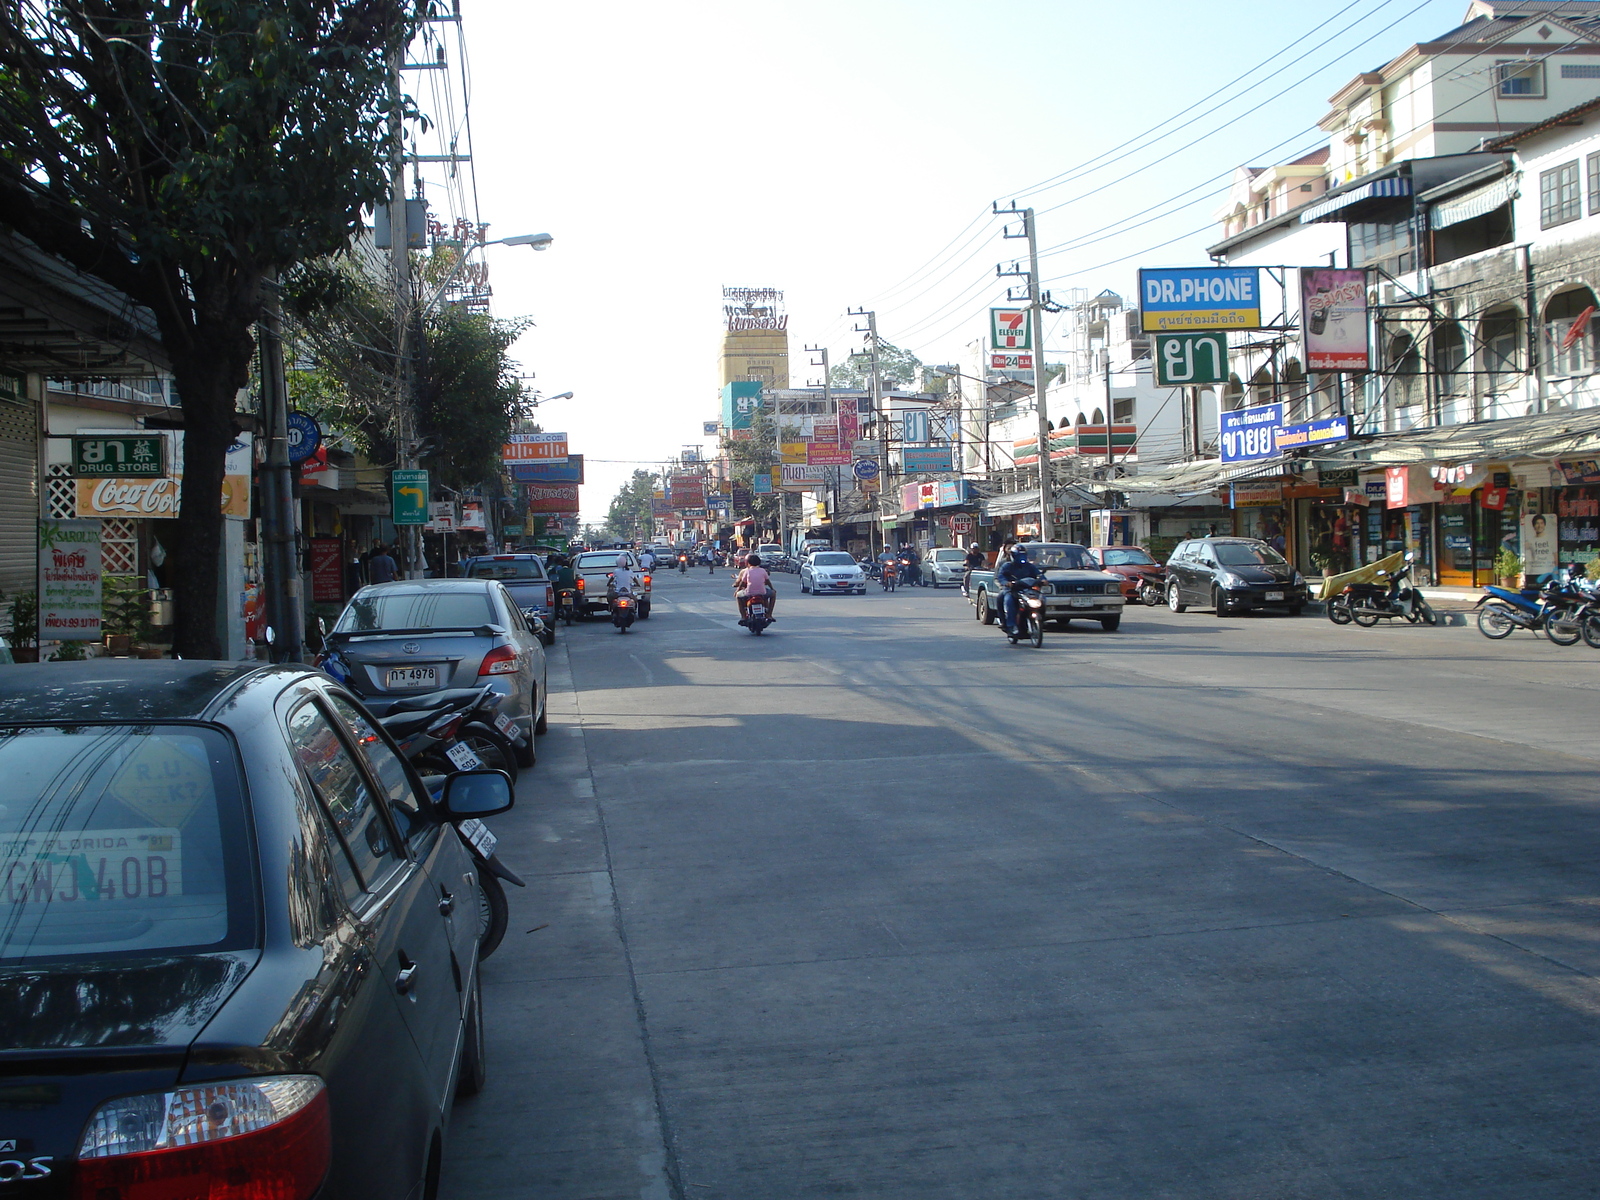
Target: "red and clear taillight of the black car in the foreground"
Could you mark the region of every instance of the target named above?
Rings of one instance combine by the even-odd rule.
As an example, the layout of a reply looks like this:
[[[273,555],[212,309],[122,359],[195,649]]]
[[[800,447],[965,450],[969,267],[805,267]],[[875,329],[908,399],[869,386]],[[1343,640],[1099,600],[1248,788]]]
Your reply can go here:
[[[74,1200],[306,1200],[333,1160],[315,1075],[107,1101],[78,1142]]]

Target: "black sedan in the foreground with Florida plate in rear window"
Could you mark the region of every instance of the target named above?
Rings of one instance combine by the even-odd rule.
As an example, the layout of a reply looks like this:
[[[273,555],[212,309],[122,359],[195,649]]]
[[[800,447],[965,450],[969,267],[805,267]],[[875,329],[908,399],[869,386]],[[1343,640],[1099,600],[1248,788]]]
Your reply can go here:
[[[427,1194],[486,1069],[451,822],[502,773],[435,802],[320,672],[126,659],[0,667],[0,1187]]]

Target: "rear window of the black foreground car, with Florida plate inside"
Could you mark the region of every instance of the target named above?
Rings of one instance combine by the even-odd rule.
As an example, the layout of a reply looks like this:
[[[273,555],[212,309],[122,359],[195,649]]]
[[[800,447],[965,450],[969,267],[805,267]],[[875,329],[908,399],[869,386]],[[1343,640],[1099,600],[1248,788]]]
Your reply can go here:
[[[190,725],[0,728],[0,960],[256,939],[232,742]]]

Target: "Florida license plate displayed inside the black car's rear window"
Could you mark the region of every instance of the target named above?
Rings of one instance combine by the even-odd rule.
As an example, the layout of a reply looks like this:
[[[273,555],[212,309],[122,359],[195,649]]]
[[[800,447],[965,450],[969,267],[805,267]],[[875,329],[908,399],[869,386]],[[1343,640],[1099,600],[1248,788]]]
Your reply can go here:
[[[8,904],[122,904],[184,894],[176,829],[6,834],[0,896]]]

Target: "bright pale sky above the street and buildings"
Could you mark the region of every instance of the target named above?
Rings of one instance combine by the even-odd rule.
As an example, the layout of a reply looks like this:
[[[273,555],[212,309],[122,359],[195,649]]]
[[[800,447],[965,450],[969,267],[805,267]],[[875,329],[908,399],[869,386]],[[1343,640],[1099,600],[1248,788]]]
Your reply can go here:
[[[461,0],[477,210],[490,238],[555,238],[483,251],[493,310],[534,322],[531,386],[573,392],[538,418],[598,520],[635,467],[709,448],[723,285],[786,293],[792,386],[819,381],[805,346],[861,346],[848,309],[958,362],[1026,248],[994,202],[1037,208],[1056,299],[1130,294],[1139,266],[1206,261],[1238,165],[1326,144],[1328,96],[1466,10]]]

